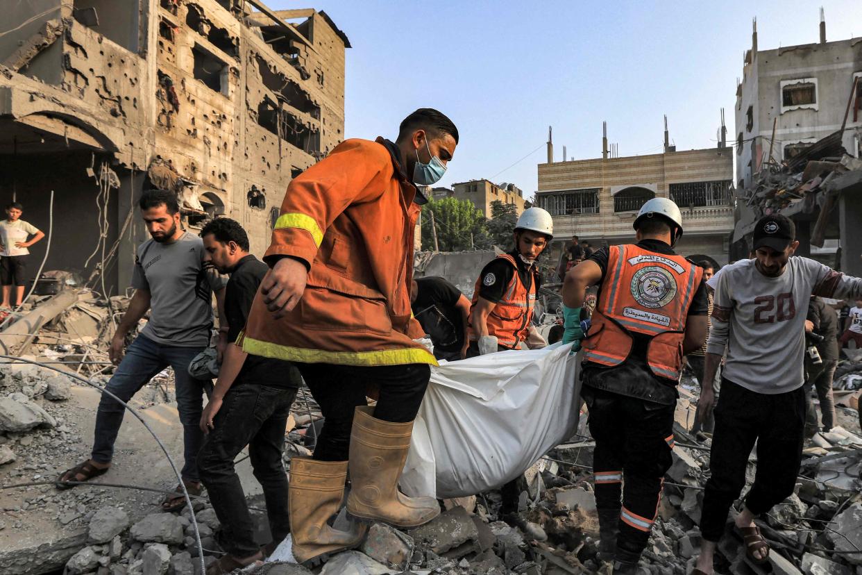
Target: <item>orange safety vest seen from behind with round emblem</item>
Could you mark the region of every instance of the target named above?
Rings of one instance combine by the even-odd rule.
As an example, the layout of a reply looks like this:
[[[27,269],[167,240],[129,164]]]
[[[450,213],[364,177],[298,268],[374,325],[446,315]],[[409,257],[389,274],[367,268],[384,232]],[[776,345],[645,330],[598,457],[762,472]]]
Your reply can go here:
[[[685,318],[703,270],[680,255],[635,245],[611,246],[584,358],[618,366],[632,350],[632,333],[653,336],[647,364],[661,378],[678,380],[683,366]]]

